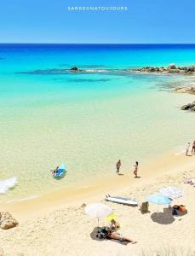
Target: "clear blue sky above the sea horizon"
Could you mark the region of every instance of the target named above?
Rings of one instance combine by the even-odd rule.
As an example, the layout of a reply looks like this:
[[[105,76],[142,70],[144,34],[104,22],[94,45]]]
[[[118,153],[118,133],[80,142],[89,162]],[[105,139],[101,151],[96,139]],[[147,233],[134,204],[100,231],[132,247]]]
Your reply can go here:
[[[195,43],[194,14],[195,0],[0,0],[0,43]]]

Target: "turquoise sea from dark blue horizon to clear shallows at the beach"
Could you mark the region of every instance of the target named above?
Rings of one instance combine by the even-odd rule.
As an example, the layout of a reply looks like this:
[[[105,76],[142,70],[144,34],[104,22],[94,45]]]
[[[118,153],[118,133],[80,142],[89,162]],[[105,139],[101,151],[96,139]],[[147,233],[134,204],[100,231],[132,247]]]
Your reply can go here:
[[[193,96],[169,89],[195,79],[120,70],[194,60],[195,44],[0,44],[0,180],[18,179],[0,201],[114,173],[119,158],[129,172],[181,150],[195,122],[180,106]],[[66,72],[74,66],[89,73]],[[56,181],[49,170],[60,163],[68,172]]]

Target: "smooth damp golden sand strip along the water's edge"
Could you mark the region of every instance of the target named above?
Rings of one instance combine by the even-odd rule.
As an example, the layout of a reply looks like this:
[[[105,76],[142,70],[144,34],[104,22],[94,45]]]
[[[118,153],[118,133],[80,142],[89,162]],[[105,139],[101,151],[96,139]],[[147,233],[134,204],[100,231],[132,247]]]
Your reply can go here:
[[[138,171],[140,178],[135,178],[133,171],[124,172],[123,176],[112,173],[98,179],[92,179],[90,182],[88,180],[80,183],[77,188],[69,187],[55,190],[26,201],[0,203],[0,207],[2,212],[11,212],[19,221],[24,221],[35,217],[37,211],[39,215],[44,215],[46,212],[54,211],[59,207],[81,206],[83,203],[91,201],[102,201],[107,193],[120,195],[129,190],[129,187],[136,189],[136,186],[150,183],[166,173],[195,166],[194,157],[186,157],[186,155],[175,154],[174,152],[163,154],[163,156],[146,163],[145,166],[141,166]]]

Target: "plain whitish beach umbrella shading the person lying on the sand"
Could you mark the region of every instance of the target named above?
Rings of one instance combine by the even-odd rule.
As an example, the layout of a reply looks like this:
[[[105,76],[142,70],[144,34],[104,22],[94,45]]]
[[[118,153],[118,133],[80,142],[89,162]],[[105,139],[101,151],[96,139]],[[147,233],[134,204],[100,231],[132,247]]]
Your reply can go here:
[[[99,226],[99,218],[107,217],[112,213],[112,208],[101,203],[89,204],[85,207],[85,213],[88,214],[92,218],[98,219]]]

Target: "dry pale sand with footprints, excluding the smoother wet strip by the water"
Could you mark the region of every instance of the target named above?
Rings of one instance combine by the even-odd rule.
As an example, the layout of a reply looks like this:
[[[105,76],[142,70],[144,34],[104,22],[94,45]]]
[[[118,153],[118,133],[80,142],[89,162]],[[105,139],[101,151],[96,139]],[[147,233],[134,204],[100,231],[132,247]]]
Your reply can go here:
[[[174,248],[179,251],[190,250],[189,255],[195,251],[195,188],[183,183],[184,177],[195,177],[195,155],[192,157],[172,156],[175,165],[169,160],[164,160],[164,172],[155,177],[141,177],[135,183],[125,186],[123,193],[145,201],[146,195],[158,192],[163,185],[175,186],[184,190],[184,197],[174,201],[174,204],[184,204],[187,214],[173,217],[166,207],[150,204],[150,213],[141,214],[139,207],[128,207],[113,203],[110,205],[118,215],[118,222],[122,225],[119,232],[124,236],[138,241],[137,244],[123,245],[118,241],[96,241],[90,234],[97,221],[89,218],[81,205],[89,201],[101,201],[103,194],[91,196],[80,201],[75,201],[74,206],[64,203],[56,205],[54,210],[47,207],[29,215],[26,210],[15,211],[20,220],[20,225],[11,230],[0,230],[0,247],[5,255],[141,255],[142,251],[150,252],[163,247]],[[158,162],[160,163],[160,162]],[[157,164],[157,163],[156,163]],[[165,172],[166,170],[166,172]],[[126,176],[126,178],[129,178]],[[119,192],[114,194],[118,195]],[[40,202],[39,202],[40,203]],[[24,202],[23,202],[24,204]],[[35,206],[35,204],[33,203]],[[39,205],[40,207],[40,205]],[[165,208],[165,209],[163,209]],[[158,213],[159,211],[159,213]],[[164,212],[163,212],[164,211]],[[14,210],[13,210],[14,214]],[[106,219],[101,219],[100,224],[106,224]],[[186,255],[180,252],[181,255]],[[149,253],[148,255],[157,255]],[[171,255],[171,253],[167,254]]]

